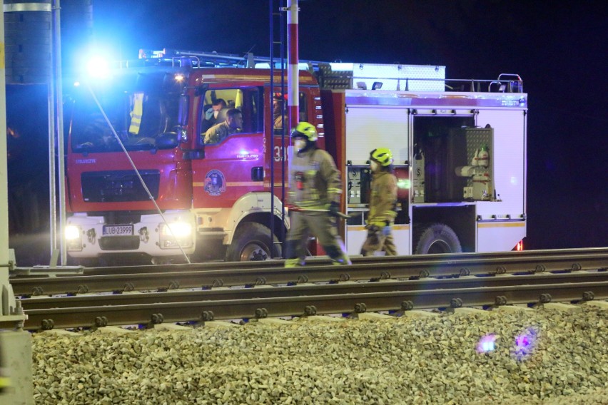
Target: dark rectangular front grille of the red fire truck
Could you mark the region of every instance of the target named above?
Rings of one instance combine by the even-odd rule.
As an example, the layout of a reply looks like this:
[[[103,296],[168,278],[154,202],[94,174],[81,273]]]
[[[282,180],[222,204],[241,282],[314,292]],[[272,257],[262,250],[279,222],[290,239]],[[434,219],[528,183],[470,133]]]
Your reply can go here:
[[[161,174],[158,170],[140,170],[153,198],[158,198]],[[149,200],[134,170],[86,172],[81,175],[82,196],[86,202],[128,202]]]

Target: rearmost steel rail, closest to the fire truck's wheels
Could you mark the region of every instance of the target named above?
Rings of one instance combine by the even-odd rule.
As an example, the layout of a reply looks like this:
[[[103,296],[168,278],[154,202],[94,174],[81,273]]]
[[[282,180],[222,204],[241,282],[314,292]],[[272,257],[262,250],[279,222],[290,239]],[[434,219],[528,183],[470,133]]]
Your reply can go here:
[[[466,255],[420,255],[373,257],[349,266],[313,265],[284,268],[279,265],[243,265],[214,263],[201,265],[203,270],[169,271],[164,267],[155,273],[128,272],[111,275],[78,275],[69,277],[14,277],[14,294],[78,294],[83,292],[176,289],[195,287],[229,287],[255,284],[327,282],[330,280],[372,280],[387,278],[439,277],[468,274],[517,272],[552,272],[597,270],[608,267],[608,248],[589,250],[546,250],[536,254],[500,252]],[[363,258],[362,258],[363,259]],[[323,263],[323,261],[320,261]],[[129,270],[127,270],[129,271]]]

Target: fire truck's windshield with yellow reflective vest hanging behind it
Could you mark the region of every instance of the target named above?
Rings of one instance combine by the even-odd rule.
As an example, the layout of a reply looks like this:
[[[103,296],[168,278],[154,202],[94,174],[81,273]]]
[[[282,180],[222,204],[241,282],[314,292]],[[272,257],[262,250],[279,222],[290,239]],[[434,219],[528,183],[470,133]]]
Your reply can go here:
[[[178,125],[177,93],[102,93],[96,94],[96,98],[127,150],[157,148],[156,140]],[[82,91],[74,99],[73,107],[70,139],[74,152],[121,150],[90,93]]]

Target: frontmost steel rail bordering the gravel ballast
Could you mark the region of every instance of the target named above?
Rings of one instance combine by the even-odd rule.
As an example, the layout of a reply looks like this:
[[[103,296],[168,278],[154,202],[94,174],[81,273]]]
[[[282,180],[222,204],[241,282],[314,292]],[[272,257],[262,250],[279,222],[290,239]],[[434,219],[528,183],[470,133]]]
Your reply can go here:
[[[579,301],[592,292],[608,299],[608,282],[510,285],[460,289],[362,292],[249,299],[168,302],[137,305],[32,309],[25,329],[75,328],[161,322],[206,322],[314,314],[357,314],[402,309],[486,307],[500,304],[544,304]]]

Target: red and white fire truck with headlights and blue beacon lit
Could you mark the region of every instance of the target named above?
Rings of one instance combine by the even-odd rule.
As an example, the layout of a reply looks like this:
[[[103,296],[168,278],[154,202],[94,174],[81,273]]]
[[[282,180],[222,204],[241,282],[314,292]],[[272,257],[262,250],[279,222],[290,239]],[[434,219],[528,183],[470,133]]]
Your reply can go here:
[[[280,257],[291,153],[289,128],[273,125],[282,74],[253,56],[141,52],[74,86],[64,108],[69,256]],[[226,108],[213,113],[219,99],[243,125],[205,144],[224,118]],[[318,128],[342,171],[350,255],[365,239],[368,157],[379,147],[395,158],[400,255],[512,250],[525,237],[519,76],[449,80],[444,66],[301,62],[298,101],[297,120]]]

